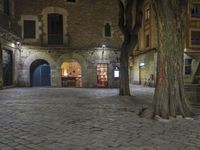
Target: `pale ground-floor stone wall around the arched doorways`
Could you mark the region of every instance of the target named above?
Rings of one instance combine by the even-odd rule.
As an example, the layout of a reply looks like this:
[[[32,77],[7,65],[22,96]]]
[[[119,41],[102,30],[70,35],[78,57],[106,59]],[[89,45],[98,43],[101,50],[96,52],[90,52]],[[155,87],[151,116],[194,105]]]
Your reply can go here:
[[[19,86],[30,86],[30,66],[38,59],[43,59],[51,67],[51,86],[61,87],[61,65],[65,61],[75,60],[81,65],[83,87],[97,87],[97,64],[108,64],[108,87],[118,87],[119,80],[114,79],[113,71],[119,66],[119,52],[115,49],[76,50],[23,46],[21,65],[18,69]]]

